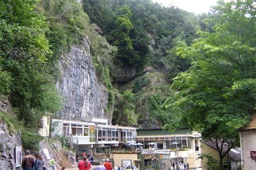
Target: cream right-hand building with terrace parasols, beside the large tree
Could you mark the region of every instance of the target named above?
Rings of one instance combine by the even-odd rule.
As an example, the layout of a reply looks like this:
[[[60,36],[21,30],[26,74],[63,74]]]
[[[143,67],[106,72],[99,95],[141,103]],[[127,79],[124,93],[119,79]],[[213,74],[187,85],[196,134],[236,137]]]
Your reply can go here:
[[[201,159],[198,158],[201,153],[200,134],[197,132],[186,129],[176,133],[161,128],[137,129],[136,141],[142,144],[143,169],[163,169],[180,163],[188,163],[190,168],[201,167]],[[151,157],[157,159],[149,159]],[[163,159],[167,157],[169,161]]]

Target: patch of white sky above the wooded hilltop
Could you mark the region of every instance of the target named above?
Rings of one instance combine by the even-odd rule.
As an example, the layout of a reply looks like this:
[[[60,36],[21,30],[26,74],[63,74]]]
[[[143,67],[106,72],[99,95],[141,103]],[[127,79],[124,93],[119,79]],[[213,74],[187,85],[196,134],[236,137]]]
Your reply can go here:
[[[164,6],[174,5],[179,9],[196,14],[210,11],[210,7],[217,5],[218,0],[153,0]]]

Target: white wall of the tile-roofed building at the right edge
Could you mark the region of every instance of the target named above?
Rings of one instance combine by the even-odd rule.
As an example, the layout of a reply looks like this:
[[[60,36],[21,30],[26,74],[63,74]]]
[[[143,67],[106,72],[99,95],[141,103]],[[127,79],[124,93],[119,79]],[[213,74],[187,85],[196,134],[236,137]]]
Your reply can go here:
[[[250,153],[250,151],[256,151],[256,130],[240,132],[240,134],[244,169],[256,169],[256,159],[252,159]]]

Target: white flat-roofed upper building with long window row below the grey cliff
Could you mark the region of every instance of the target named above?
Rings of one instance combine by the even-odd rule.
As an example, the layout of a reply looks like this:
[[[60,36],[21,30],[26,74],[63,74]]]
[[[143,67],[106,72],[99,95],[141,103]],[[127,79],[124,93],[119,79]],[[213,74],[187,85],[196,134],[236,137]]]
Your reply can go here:
[[[86,122],[52,119],[52,129],[52,138],[68,137],[70,143],[91,154],[109,153],[111,147],[136,142],[136,128],[108,125],[107,119],[91,118]]]

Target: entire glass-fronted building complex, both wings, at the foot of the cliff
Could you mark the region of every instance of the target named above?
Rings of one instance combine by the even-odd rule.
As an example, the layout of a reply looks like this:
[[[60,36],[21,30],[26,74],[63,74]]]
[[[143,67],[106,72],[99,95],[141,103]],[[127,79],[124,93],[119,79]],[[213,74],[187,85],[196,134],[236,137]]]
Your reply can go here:
[[[113,165],[131,162],[138,167],[142,165],[143,169],[161,169],[181,162],[188,163],[191,168],[201,167],[201,159],[198,158],[201,153],[200,134],[196,132],[136,129],[109,125],[107,119],[97,118],[85,121],[52,119],[51,126],[51,137],[68,137],[70,144],[78,146],[78,157],[83,152],[95,155],[95,158],[105,155],[113,160]],[[137,156],[133,158],[131,155]],[[123,160],[123,157],[130,159]]]

